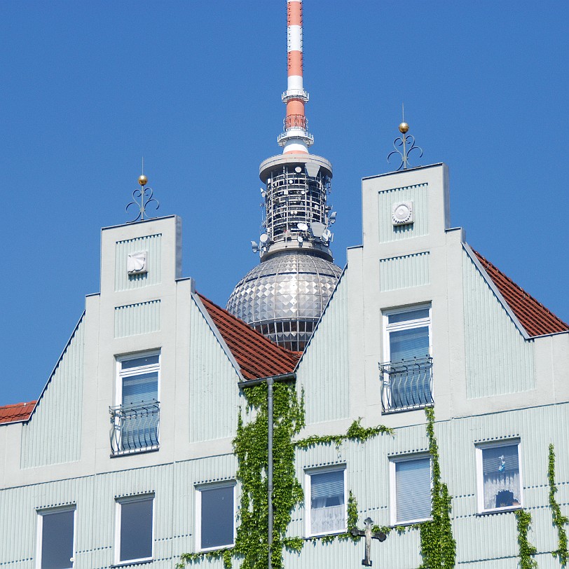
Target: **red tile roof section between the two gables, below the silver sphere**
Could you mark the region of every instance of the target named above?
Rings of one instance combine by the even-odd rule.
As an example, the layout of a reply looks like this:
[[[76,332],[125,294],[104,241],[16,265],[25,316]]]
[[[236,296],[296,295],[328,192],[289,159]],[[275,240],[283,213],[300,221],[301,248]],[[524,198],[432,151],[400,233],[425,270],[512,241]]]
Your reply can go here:
[[[280,376],[294,371],[301,357],[299,352],[281,348],[205,296],[199,293],[198,296],[239,364],[243,378]]]

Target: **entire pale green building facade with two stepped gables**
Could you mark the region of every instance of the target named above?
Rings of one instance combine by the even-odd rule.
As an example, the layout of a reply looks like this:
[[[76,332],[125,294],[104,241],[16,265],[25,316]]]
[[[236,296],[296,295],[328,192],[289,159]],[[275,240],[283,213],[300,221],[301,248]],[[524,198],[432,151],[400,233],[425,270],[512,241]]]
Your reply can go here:
[[[298,450],[297,478],[306,492],[311,473],[345,469],[343,490],[357,500],[358,526],[368,516],[393,525],[393,465],[425,455],[428,441],[423,406],[390,412],[402,397],[392,391],[386,409],[378,365],[395,350],[389,315],[428,308],[435,432],[453,497],[456,566],[518,566],[518,506],[480,512],[477,456],[500,444],[518,445],[519,507],[533,518],[535,559],[541,568],[560,566],[550,554],[557,545],[547,455],[554,444],[557,500],[569,514],[569,332],[530,337],[523,329],[462,230],[450,227],[446,166],[366,178],[362,193],[363,244],[348,250],[348,266],[296,367],[306,407],[301,436],[343,434],[357,418],[394,434]],[[412,224],[392,224],[400,202],[412,203]],[[40,568],[39,516],[58,507],[76,512],[72,567],[113,566],[117,503],[137,495],[153,497],[153,551],[144,566],[173,568],[181,554],[198,550],[198,491],[235,482],[232,441],[246,402],[240,366],[193,281],[181,278],[180,251],[174,216],[102,231],[100,294],[87,297],[31,418],[0,425],[0,568]],[[137,252],[146,253],[146,272],[129,275],[128,255]],[[109,407],[120,403],[121,358],[157,352],[159,448],[111,457]],[[308,503],[294,510],[290,537],[309,537],[309,510]],[[418,536],[409,530],[373,541],[373,566],[417,568]],[[363,541],[307,540],[300,553],[284,551],[290,569],[355,568],[363,556]],[[195,563],[223,567],[210,558]]]

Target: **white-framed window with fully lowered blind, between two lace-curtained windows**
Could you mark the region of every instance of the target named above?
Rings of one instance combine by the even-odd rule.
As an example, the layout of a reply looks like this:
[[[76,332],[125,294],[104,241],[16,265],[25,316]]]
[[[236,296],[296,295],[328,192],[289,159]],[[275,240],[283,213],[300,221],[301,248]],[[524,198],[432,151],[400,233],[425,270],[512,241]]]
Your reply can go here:
[[[430,456],[392,459],[390,479],[392,525],[430,519]]]

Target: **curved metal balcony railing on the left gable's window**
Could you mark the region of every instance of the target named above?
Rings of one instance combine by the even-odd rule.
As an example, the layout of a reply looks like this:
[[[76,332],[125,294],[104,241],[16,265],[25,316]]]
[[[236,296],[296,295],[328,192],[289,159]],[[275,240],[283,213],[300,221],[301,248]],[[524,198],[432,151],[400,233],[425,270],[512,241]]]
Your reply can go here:
[[[158,450],[160,403],[149,401],[109,407],[111,455]]]

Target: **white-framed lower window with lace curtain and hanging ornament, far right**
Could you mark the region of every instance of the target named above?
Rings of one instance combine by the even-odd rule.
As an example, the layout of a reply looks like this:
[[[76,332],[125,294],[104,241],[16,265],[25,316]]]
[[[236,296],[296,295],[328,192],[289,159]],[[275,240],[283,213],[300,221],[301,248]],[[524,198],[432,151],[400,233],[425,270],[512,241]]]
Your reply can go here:
[[[479,512],[522,505],[519,442],[477,446]]]

